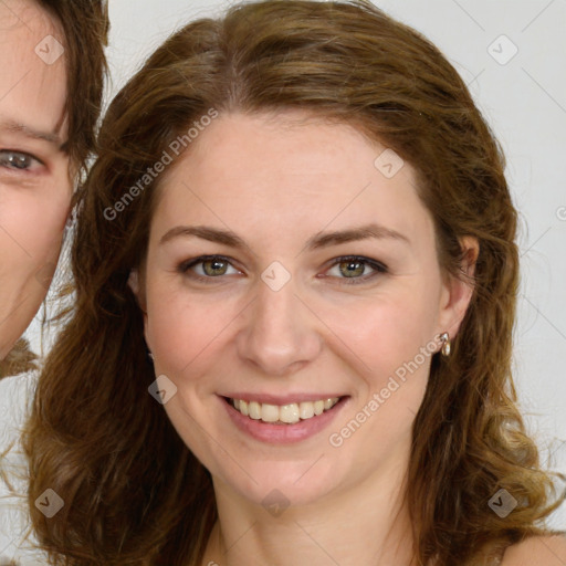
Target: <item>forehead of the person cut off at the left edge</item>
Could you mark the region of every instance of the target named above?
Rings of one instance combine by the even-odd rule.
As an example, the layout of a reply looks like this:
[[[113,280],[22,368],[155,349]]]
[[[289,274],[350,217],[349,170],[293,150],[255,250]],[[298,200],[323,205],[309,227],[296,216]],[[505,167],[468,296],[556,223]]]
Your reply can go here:
[[[35,2],[0,1],[0,120],[64,136],[62,43],[60,27]]]

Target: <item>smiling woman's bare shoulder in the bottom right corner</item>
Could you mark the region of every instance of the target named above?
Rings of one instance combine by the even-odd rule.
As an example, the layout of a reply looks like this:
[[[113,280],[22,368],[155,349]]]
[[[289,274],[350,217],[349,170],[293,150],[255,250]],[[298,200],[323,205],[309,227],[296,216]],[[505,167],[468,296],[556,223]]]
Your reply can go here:
[[[502,566],[564,566],[566,537],[532,536],[505,551]]]

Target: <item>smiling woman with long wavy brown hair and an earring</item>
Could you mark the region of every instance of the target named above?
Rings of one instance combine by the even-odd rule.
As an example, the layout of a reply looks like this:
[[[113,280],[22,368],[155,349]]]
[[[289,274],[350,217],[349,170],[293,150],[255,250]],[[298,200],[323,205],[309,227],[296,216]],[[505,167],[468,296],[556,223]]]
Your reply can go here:
[[[157,50],[99,146],[25,433],[55,564],[562,560],[503,157],[433,45],[361,1],[239,4]]]

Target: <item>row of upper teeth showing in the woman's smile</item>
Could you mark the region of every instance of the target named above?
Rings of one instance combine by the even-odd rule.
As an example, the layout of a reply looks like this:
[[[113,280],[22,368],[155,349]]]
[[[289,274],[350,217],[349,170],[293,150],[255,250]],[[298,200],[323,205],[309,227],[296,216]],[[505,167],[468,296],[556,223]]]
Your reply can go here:
[[[322,399],[319,401],[292,402],[291,405],[269,405],[266,402],[244,401],[242,399],[231,399],[233,407],[245,417],[262,420],[263,422],[286,422],[294,424],[300,420],[305,420],[321,415],[332,409],[339,400],[339,397],[332,399]]]

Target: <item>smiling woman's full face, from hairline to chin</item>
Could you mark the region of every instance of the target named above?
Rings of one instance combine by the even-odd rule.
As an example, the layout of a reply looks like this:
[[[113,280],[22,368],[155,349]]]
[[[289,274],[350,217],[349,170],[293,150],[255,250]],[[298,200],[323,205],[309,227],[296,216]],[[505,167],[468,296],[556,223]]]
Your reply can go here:
[[[165,410],[217,485],[254,502],[402,471],[437,336],[470,296],[441,275],[411,167],[301,116],[200,133],[133,277]]]

